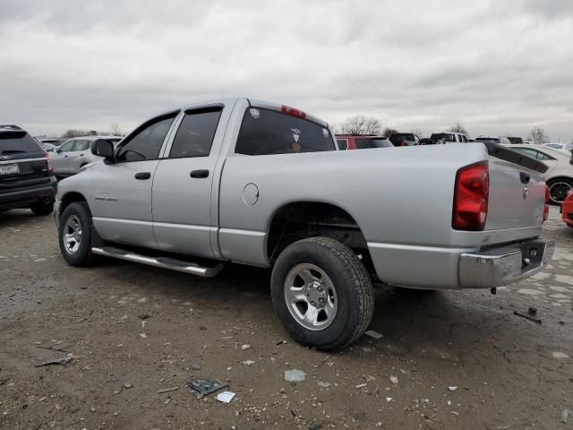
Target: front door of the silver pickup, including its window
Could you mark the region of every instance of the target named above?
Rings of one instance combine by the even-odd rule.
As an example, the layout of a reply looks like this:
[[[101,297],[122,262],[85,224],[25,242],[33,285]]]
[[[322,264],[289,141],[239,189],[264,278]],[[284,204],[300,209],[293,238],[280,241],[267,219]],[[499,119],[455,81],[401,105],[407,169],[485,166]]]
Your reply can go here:
[[[158,116],[141,125],[116,150],[114,164],[98,165],[90,208],[94,227],[104,240],[157,248],[151,185],[159,151],[177,114]]]

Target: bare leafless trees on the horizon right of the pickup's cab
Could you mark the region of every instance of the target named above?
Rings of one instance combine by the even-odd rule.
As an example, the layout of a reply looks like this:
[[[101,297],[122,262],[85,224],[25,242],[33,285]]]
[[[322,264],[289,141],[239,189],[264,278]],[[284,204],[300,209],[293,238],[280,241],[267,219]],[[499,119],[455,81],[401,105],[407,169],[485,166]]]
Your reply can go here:
[[[453,133],[463,133],[466,134],[466,136],[470,135],[466,127],[460,122],[449,127],[449,131]],[[381,121],[374,116],[356,115],[350,116],[342,124],[335,126],[335,132],[338,134],[368,134],[389,137],[392,133],[398,133],[398,130],[389,126],[382,127]],[[419,128],[410,130],[410,133],[414,133],[418,137],[423,138],[423,132]],[[549,134],[545,133],[545,130],[541,127],[532,128],[526,140],[538,145],[551,142]]]

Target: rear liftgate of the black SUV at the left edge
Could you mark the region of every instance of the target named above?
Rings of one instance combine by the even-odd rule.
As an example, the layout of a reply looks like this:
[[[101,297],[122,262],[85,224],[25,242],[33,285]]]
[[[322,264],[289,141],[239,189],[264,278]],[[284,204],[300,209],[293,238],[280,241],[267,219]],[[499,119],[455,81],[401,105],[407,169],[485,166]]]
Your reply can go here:
[[[32,185],[48,185],[45,150],[23,130],[0,133],[0,196]]]

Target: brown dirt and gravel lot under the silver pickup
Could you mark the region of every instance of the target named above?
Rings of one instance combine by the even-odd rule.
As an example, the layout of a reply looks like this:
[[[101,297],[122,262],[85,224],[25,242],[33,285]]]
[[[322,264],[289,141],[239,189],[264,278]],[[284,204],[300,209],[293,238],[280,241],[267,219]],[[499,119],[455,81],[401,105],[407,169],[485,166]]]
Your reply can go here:
[[[545,235],[558,251],[534,280],[497,296],[377,289],[383,338],[325,354],[286,337],[267,271],[75,269],[51,217],[0,214],[0,428],[572,428],[573,230],[556,208]],[[541,325],[513,314],[529,306]],[[304,382],[285,381],[293,368]],[[199,376],[228,381],[235,400],[195,399],[185,383]]]

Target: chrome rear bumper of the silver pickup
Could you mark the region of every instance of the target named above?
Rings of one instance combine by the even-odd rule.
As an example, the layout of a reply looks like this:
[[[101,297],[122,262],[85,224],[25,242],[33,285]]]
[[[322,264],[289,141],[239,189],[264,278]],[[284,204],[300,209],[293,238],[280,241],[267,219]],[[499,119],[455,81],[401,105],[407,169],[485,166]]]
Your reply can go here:
[[[529,278],[552,260],[554,249],[554,242],[532,240],[478,254],[461,254],[459,286],[493,288]]]

